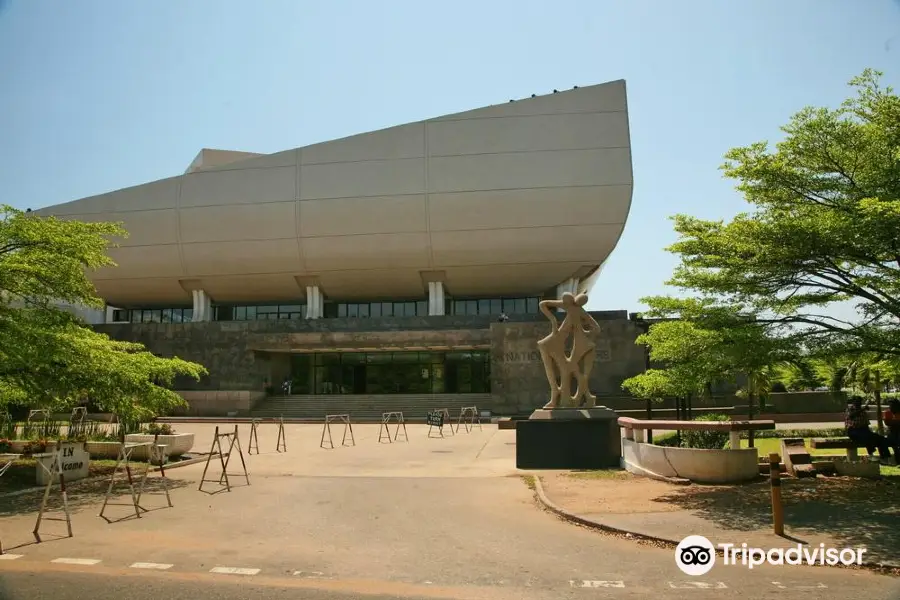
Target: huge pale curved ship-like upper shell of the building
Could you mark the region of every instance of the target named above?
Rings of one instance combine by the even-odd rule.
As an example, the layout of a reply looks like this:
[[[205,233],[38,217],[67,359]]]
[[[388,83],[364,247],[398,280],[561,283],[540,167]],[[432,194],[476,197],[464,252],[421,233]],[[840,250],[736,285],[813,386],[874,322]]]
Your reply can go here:
[[[631,204],[624,81],[244,154],[36,212],[124,222],[91,277],[129,306],[541,293],[601,265]]]

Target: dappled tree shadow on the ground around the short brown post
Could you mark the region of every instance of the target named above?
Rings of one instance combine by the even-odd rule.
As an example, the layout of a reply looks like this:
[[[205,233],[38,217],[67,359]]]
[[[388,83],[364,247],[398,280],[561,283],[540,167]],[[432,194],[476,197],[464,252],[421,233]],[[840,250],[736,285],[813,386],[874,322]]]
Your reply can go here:
[[[785,527],[794,536],[787,539],[827,536],[840,546],[868,548],[869,560],[900,562],[900,477],[782,481]],[[654,500],[692,511],[723,529],[769,532],[772,527],[768,481],[691,485]]]

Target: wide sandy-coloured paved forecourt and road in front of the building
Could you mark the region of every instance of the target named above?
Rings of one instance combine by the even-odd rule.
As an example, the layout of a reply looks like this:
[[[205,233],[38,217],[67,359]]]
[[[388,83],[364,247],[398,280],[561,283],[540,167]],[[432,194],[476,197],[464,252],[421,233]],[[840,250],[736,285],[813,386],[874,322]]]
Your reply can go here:
[[[4,499],[0,597],[35,597],[41,580],[56,582],[52,595],[61,600],[123,589],[139,599],[203,590],[321,599],[900,597],[896,579],[861,570],[716,567],[688,577],[669,548],[540,508],[515,469],[515,432],[496,425],[433,439],[426,426],[408,425],[409,442],[390,444],[378,442],[377,425],[354,425],[355,446],[340,445],[336,425],[333,450],[319,448],[321,425],[287,425],[287,452],[277,453],[277,426],[263,424],[261,453],[251,456],[249,425],[239,427],[250,485],[232,477],[231,492],[198,491],[204,463],[171,469],[174,508],[153,510],[164,498],[152,496],[143,518],[107,524],[97,516],[102,491],[82,483],[70,490],[75,537],[42,544],[32,543],[33,497]],[[177,427],[194,432],[194,450],[203,452],[213,428]],[[232,462],[229,471],[239,470]],[[219,472],[211,468],[212,477]],[[64,524],[44,531],[61,533]]]

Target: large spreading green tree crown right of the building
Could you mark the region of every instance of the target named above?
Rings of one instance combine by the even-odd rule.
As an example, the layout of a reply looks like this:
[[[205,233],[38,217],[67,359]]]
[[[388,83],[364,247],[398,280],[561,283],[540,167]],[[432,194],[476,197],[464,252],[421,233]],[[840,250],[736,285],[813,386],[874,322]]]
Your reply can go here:
[[[753,211],[730,222],[674,217],[668,282],[759,322],[790,325],[811,352],[900,356],[900,97],[866,70],[837,109],[806,108],[766,142],[726,154]],[[851,301],[857,318],[828,314]],[[645,300],[677,316],[675,299]]]

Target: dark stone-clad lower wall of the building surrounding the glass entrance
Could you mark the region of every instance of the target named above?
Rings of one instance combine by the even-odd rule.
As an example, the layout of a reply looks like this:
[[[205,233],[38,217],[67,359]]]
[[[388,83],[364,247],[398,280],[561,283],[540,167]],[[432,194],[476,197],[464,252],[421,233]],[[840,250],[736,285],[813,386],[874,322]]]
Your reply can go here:
[[[592,334],[597,357],[591,391],[598,403],[620,404],[621,383],[644,370],[644,350],[634,343],[639,330],[625,311],[591,313],[601,326]],[[290,370],[290,351],[402,350],[437,346],[491,349],[494,414],[527,414],[546,403],[549,385],[537,342],[550,331],[542,315],[518,315],[499,323],[491,317],[410,317],[168,324],[105,324],[97,331],[139,342],[160,356],[198,362],[210,372],[202,381],[179,381],[185,392],[219,391],[225,396],[192,395],[191,414],[210,414],[220,405],[245,410],[249,400],[231,395],[262,392]],[[187,395],[186,395],[187,397]],[[247,396],[249,398],[249,396]],[[605,400],[604,400],[605,399]],[[636,408],[640,405],[636,404]],[[201,411],[201,412],[195,412]]]

